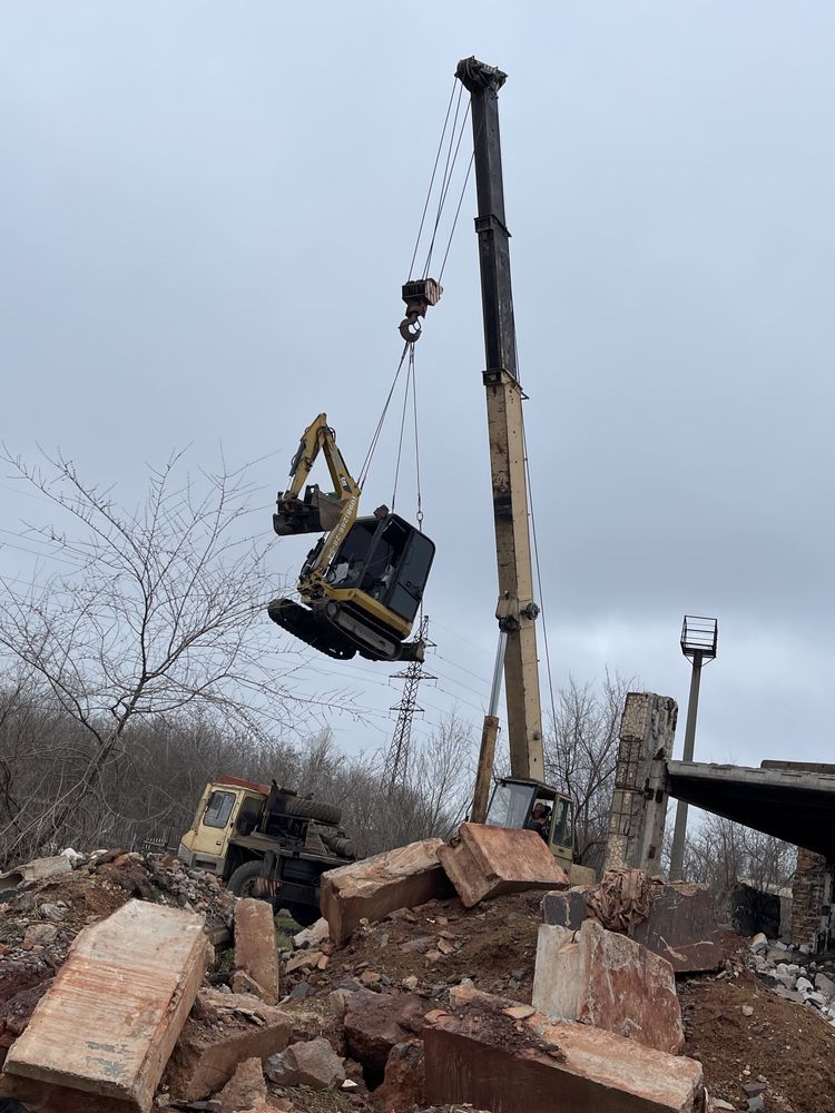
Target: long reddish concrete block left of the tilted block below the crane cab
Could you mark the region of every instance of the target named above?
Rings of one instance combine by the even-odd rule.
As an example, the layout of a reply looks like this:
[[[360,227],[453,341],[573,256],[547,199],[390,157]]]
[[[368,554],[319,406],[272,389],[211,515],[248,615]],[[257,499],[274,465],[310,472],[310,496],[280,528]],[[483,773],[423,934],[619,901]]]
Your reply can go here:
[[[397,908],[450,896],[441,846],[440,838],[428,838],[323,874],[320,903],[334,943],[346,943],[361,919],[376,923]]]

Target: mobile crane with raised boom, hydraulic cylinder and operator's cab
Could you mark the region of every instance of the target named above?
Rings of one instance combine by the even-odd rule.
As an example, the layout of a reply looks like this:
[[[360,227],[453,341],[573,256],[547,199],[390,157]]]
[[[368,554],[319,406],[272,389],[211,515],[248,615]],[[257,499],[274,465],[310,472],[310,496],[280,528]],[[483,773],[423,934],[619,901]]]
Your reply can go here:
[[[528,530],[522,400],[518,378],[513,295],[510,280],[510,233],[504,217],[499,90],[507,73],[475,58],[459,62],[455,76],[470,92],[474,141],[481,269],[481,301],[487,367],[488,432],[493,487],[493,522],[499,572],[500,640],[490,711],[484,717],[481,752],[470,818],[502,827],[527,827],[533,809],[547,815],[542,834],[562,864],[572,861],[571,800],[543,781],[542,712]],[[499,720],[495,717],[502,668],[508,707],[511,776],[490,785]],[[581,868],[581,867],[580,867]]]

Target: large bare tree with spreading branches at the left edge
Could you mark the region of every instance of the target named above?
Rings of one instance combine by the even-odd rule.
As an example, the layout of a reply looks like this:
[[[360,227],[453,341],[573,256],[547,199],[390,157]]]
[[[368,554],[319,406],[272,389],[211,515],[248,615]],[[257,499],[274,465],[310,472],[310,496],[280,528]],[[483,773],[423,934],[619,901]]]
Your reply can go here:
[[[264,613],[276,584],[266,535],[246,529],[245,469],[190,476],[175,454],[149,471],[140,505],[124,510],[63,456],[35,466],[3,459],[51,508],[56,521],[29,535],[65,569],[23,588],[0,577],[0,661],[24,678],[30,702],[60,717],[66,736],[51,782],[28,798],[14,796],[8,761],[0,768],[10,804],[0,839],[8,853],[32,853],[60,841],[70,817],[78,828],[89,812],[95,826],[118,810],[135,780],[109,777],[106,794],[102,778],[125,767],[143,720],[199,715],[227,732],[265,737],[292,728],[301,701],[289,687],[296,662],[276,652]]]

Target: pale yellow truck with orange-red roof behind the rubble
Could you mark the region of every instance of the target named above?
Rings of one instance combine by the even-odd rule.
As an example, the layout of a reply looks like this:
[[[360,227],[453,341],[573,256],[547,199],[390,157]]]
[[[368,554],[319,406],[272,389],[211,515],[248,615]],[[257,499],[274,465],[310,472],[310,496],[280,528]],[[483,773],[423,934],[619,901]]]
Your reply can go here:
[[[320,916],[320,877],[356,859],[340,809],[237,777],[208,784],[177,857],[236,896],[268,898],[303,926]]]

